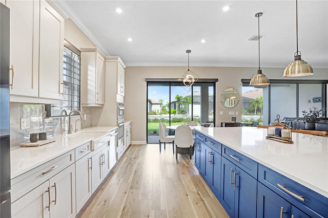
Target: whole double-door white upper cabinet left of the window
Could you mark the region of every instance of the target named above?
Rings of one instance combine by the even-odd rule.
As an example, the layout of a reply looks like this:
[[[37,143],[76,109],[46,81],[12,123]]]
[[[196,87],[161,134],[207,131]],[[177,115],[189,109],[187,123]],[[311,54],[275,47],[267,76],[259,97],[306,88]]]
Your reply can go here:
[[[6,5],[10,8],[10,100],[61,99],[65,19],[44,0],[6,1]]]

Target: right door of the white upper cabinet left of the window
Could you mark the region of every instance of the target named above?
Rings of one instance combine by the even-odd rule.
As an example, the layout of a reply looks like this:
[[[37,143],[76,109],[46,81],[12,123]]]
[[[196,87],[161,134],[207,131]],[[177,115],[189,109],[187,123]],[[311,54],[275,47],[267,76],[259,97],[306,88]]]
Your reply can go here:
[[[64,18],[40,2],[39,97],[60,99],[64,93]]]

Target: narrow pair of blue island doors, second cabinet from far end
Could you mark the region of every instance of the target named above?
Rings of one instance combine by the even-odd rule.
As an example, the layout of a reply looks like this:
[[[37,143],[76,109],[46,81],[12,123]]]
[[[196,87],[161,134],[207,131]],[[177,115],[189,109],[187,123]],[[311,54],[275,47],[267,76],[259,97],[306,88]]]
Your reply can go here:
[[[203,178],[213,191],[215,197],[220,199],[221,183],[221,155],[208,145],[203,145],[204,174]]]

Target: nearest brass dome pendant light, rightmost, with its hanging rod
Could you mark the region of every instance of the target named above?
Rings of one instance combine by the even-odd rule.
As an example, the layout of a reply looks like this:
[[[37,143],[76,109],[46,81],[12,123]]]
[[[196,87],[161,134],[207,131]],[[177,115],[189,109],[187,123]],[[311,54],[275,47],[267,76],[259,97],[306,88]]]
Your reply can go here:
[[[296,0],[296,52],[294,54],[294,61],[283,72],[282,77],[297,77],[313,75],[312,67],[301,59],[301,52],[298,51],[298,29],[297,29],[297,0]]]

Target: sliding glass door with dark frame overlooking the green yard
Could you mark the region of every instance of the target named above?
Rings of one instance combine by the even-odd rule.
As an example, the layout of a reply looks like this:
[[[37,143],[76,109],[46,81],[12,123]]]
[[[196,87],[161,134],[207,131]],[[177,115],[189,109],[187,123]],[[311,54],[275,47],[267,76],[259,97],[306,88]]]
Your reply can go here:
[[[147,143],[158,143],[159,122],[170,127],[215,120],[215,82],[196,82],[191,87],[182,82],[148,82],[147,90]]]

